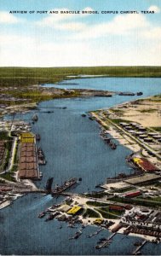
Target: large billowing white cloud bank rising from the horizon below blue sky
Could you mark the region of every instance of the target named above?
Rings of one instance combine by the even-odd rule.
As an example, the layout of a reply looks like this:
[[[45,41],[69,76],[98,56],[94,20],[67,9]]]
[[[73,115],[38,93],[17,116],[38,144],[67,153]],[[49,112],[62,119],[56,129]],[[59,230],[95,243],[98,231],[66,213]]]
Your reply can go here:
[[[152,26],[147,15],[117,15],[94,26],[71,18],[54,22],[52,17],[49,29],[45,25],[32,36],[0,36],[0,66],[161,65],[161,27]],[[49,22],[61,32],[51,30]]]

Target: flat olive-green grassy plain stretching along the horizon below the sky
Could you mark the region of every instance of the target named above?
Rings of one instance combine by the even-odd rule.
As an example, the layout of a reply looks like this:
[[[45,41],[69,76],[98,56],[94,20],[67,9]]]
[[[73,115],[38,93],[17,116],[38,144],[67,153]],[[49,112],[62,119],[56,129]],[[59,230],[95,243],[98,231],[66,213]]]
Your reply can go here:
[[[68,75],[161,77],[161,67],[0,67],[0,86],[57,83]]]

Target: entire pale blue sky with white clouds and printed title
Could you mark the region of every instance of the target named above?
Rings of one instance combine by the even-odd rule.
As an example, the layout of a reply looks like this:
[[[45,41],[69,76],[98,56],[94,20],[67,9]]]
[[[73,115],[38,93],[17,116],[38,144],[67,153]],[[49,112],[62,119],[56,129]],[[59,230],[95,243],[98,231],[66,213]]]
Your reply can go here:
[[[0,0],[0,67],[89,66],[161,66],[161,0]]]

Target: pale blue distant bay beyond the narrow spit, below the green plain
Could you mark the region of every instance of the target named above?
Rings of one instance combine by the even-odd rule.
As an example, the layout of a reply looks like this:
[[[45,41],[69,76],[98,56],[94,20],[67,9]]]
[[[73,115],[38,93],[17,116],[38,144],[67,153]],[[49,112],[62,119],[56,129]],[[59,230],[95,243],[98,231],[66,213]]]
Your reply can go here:
[[[95,79],[72,79],[60,84],[43,84],[44,87],[56,87],[66,89],[94,89],[111,91],[143,91],[145,96],[160,92],[160,79],[152,78],[95,78]]]

